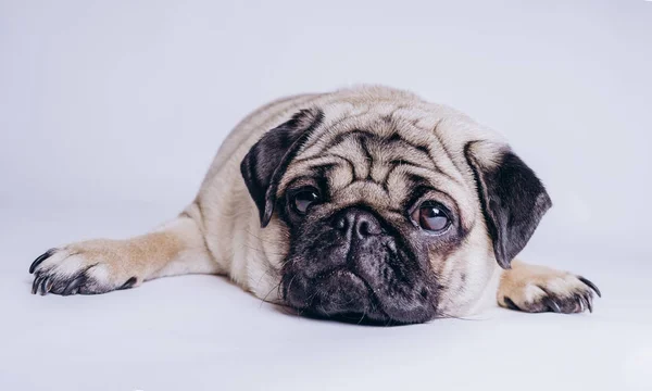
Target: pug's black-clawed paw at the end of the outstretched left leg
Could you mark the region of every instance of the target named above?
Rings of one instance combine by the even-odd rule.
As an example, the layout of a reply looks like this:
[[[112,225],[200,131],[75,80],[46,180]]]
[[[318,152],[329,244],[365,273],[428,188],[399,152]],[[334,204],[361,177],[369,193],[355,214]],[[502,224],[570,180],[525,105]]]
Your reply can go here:
[[[29,266],[32,293],[97,294],[142,282],[121,270],[121,251],[115,250],[92,242],[48,250]]]

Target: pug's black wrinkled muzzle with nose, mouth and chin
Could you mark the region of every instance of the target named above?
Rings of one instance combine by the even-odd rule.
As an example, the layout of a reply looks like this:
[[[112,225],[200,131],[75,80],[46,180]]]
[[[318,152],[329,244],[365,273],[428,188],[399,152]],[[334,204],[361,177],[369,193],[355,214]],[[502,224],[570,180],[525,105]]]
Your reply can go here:
[[[397,228],[365,205],[310,213],[291,229],[284,300],[323,317],[385,324],[434,318],[438,283],[425,245],[409,243],[413,235],[402,232],[410,230],[403,224]]]

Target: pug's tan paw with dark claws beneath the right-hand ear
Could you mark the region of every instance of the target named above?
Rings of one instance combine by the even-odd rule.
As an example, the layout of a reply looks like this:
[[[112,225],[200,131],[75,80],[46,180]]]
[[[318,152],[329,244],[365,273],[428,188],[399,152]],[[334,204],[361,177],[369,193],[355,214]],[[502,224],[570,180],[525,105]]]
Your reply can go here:
[[[503,274],[498,303],[505,308],[529,313],[593,312],[593,292],[601,297],[598,287],[584,277],[521,264]]]

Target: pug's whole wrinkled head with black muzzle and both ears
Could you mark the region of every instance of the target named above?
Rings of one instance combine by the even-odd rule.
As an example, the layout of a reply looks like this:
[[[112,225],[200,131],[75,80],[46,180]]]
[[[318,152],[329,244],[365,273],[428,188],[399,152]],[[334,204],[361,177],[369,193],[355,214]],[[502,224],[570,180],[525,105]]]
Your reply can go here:
[[[456,314],[497,262],[509,267],[550,200],[506,146],[473,126],[374,109],[301,111],[242,162],[281,254],[280,298],[301,312],[380,323]]]

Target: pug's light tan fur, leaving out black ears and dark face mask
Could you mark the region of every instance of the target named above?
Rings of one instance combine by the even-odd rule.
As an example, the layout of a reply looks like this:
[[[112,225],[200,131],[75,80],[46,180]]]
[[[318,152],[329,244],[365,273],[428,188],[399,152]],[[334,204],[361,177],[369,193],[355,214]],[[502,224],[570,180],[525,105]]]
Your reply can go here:
[[[490,156],[506,146],[504,139],[453,109],[428,103],[410,92],[376,86],[290,97],[253,112],[226,138],[196,200],[177,219],[133,239],[97,240],[60,248],[38,266],[46,286],[48,281],[65,279],[85,268],[105,291],[120,288],[131,277],[141,283],[151,278],[188,273],[226,274],[261,299],[279,300],[276,288],[288,252],[288,229],[276,217],[261,229],[256,206],[240,174],[240,162],[265,131],[309,108],[323,111],[325,130],[308,138],[281,178],[278,193],[310,167],[329,162],[337,165],[329,176],[330,187],[338,192],[331,207],[363,199],[376,210],[386,211],[412,191],[404,180],[408,173],[426,177],[448,190],[469,230],[464,245],[446,260],[432,251],[434,269],[448,287],[442,295],[442,312],[461,316],[494,304],[502,272],[493,256],[463,147],[469,140],[491,140],[476,151]],[[361,146],[354,140],[326,149],[339,135],[355,128],[380,136],[398,129],[405,140],[427,144],[439,172],[414,166],[391,169],[392,160],[426,167],[432,165],[427,155],[406,147],[387,150],[369,144],[373,164],[365,161]],[[356,176],[368,175],[373,180],[351,184],[354,178],[346,160],[353,162]],[[383,189],[379,182],[386,182],[389,190]],[[389,212],[388,216],[391,218]],[[578,289],[568,275],[516,263],[514,269],[502,275],[499,302],[503,295],[511,297],[517,304],[536,301],[541,293],[531,293],[532,285],[561,293]],[[525,304],[524,308],[527,308]]]

